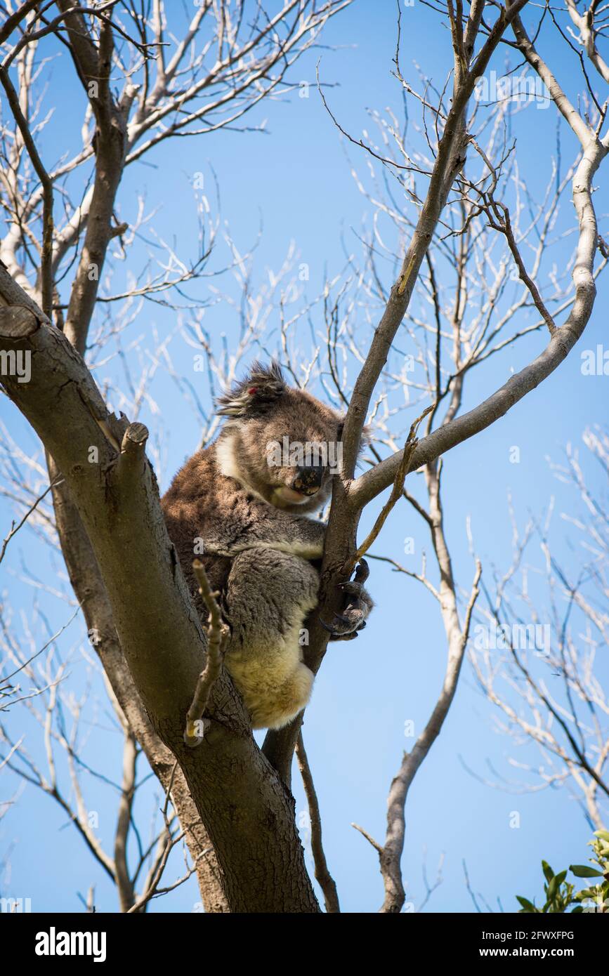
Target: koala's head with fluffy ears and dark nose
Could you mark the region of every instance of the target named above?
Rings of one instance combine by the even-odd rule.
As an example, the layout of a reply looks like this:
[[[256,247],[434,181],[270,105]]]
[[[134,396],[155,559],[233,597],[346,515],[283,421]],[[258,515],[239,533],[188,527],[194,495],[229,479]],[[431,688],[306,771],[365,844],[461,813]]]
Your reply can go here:
[[[254,363],[218,408],[228,418],[216,447],[223,474],[288,511],[313,511],[328,500],[342,457],[340,414],[287,386],[274,361]]]

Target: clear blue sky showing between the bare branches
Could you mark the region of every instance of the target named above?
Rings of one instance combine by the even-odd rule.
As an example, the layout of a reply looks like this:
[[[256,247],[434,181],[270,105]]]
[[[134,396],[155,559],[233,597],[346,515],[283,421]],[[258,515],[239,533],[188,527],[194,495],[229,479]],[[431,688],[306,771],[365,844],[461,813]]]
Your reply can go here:
[[[541,46],[553,55],[559,50],[555,32],[548,30],[544,37],[546,47]],[[308,99],[299,98],[295,92],[290,98],[265,102],[256,109],[249,124],[266,118],[267,134],[264,135],[219,132],[201,139],[165,142],[150,157],[153,166],[136,163],[127,171],[119,194],[120,218],[133,221],[137,194],[144,191],[150,208],[159,208],[154,219],[158,234],[175,240],[183,259],[194,257],[198,227],[193,174],[204,172],[209,186],[213,168],[221,188],[222,219],[229,224],[231,235],[242,250],[256,239],[262,215],[264,233],[256,252],[255,278],[262,279],[266,267],[276,268],[294,241],[299,260],[310,266],[309,294],[315,294],[326,269],[334,274],[344,266],[343,242],[347,250],[356,251],[356,234],[362,221],[366,217],[370,219],[371,210],[349,173],[351,165],[364,173],[367,159],[361,150],[345,145],[324,111],[314,90],[315,62],[321,54],[322,78],[340,83],[328,89],[328,100],[342,125],[356,138],[363,129],[370,128],[368,108],[384,109],[391,105],[399,111],[399,86],[390,76],[395,49],[394,4],[356,0],[329,24],[323,42],[328,49],[307,54],[291,76],[295,82],[310,83]],[[498,73],[505,70],[506,57],[502,51],[493,62]],[[438,17],[418,2],[414,7],[405,8],[401,63],[409,80],[417,84],[416,63],[421,63],[437,85],[443,84],[450,59],[449,34]],[[561,69],[561,80],[567,88],[577,87],[579,79],[573,61],[560,54],[553,63]],[[74,111],[71,107],[69,111],[59,111],[44,135],[43,150],[47,158],[52,158],[59,154],[59,146],[75,144],[78,140],[79,111],[83,103],[63,52],[54,62],[47,99],[60,106],[75,106]],[[417,118],[416,110],[413,118]],[[521,173],[534,194],[543,191],[550,176],[555,128],[552,106],[544,110],[528,106],[514,122]],[[573,149],[573,140],[565,135],[562,147],[565,160],[571,159]],[[604,172],[596,180],[595,202],[601,232],[606,224],[605,180]],[[568,194],[563,211],[564,223],[559,226],[568,228],[573,223]],[[558,242],[553,253],[558,265],[567,262],[571,244],[572,239],[568,238]],[[141,267],[145,254],[145,245],[138,243],[130,269]],[[131,259],[130,255],[130,262]],[[222,257],[218,261],[220,266]],[[123,273],[118,266],[112,290]],[[230,290],[229,281],[225,287]],[[207,289],[204,279],[190,286],[188,294],[205,302],[209,299]],[[187,314],[184,313],[186,317]],[[315,319],[318,311],[312,315],[319,325]],[[548,457],[560,461],[567,443],[579,443],[585,427],[606,420],[607,378],[583,376],[580,369],[580,350],[603,342],[606,315],[606,283],[601,278],[592,321],[574,354],[506,418],[445,459],[447,534],[457,579],[464,588],[473,575],[467,547],[468,516],[488,573],[485,578],[490,580],[493,564],[506,568],[509,561],[508,493],[520,524],[529,513],[542,512],[550,496],[556,497],[558,511],[575,513],[575,496],[553,477]],[[161,336],[166,335],[175,324],[176,313],[172,310],[144,305],[130,327],[129,336],[135,338],[142,334],[147,339],[153,329]],[[232,347],[237,326],[231,309],[223,304],[214,305],[206,313],[204,324],[218,346],[224,333],[228,347]],[[265,340],[270,351],[277,346],[276,329],[275,318],[269,323]],[[305,335],[302,341],[305,344]],[[510,370],[521,368],[541,351],[544,343],[545,337],[534,333],[481,369],[471,386],[467,386],[466,408],[505,382]],[[253,349],[252,357],[260,351]],[[207,377],[191,373],[191,359],[191,349],[177,348],[174,359],[177,369],[190,376],[193,383],[200,384],[201,399],[209,405]],[[125,382],[116,362],[101,369],[101,376],[110,377],[119,387]],[[163,463],[158,473],[164,489],[172,473],[196,448],[200,427],[162,370],[156,374],[151,392],[162,416],[144,410],[140,419],[152,430],[156,425],[163,428]],[[35,439],[4,399],[0,410],[16,439],[24,447],[33,448]],[[512,445],[520,448],[518,465],[508,460]],[[589,471],[592,485],[599,486],[600,474],[593,466]],[[417,478],[412,477],[413,490],[423,497]],[[374,511],[367,512],[362,531],[373,515]],[[12,517],[12,508],[2,500],[0,525],[8,527]],[[423,523],[410,508],[396,508],[392,512],[375,551],[404,562],[408,558],[403,551],[407,536],[415,539],[416,548],[408,565],[418,569],[421,551],[428,550],[429,545]],[[552,528],[551,545],[559,559],[581,558],[577,543],[568,538],[564,523],[558,519]],[[539,562],[538,553],[535,558]],[[2,592],[3,596],[10,594],[15,608],[15,629],[23,632],[25,623],[29,622],[42,643],[44,630],[32,614],[33,598],[53,630],[65,623],[71,611],[46,592],[33,593],[31,585],[23,582],[22,567],[68,591],[61,559],[41,548],[33,533],[23,531],[12,542],[6,562]],[[356,822],[377,839],[383,838],[386,793],[402,750],[412,745],[412,740],[404,737],[404,723],[414,720],[417,730],[425,723],[441,685],[446,654],[441,621],[428,594],[415,582],[392,573],[386,565],[375,563],[372,569],[370,589],[377,602],[374,618],[357,641],[331,645],[316,680],[304,725],[304,740],[323,816],[328,863],[346,912],[376,911],[381,904],[377,855],[350,824]],[[61,635],[58,653],[66,655],[70,648],[78,648],[84,636],[83,622],[77,619]],[[601,668],[606,680],[606,662]],[[86,662],[76,655],[70,666],[70,687],[82,690],[91,677],[90,672]],[[99,675],[92,682],[87,722],[96,719],[100,727],[89,728],[83,754],[89,766],[116,781],[121,737],[111,728]],[[500,898],[509,911],[515,907],[514,895],[530,897],[541,891],[542,857],[556,870],[585,859],[589,826],[578,804],[565,790],[507,793],[485,785],[467,771],[494,780],[497,777],[489,772],[492,767],[502,770],[507,778],[516,778],[507,765],[508,756],[514,752],[511,742],[493,730],[492,716],[492,707],[476,689],[466,663],[442,734],[408,798],[404,876],[407,899],[415,908],[425,896],[422,866],[426,863],[427,874],[433,881],[442,854],[443,882],[428,906],[436,912],[472,911],[463,860],[467,862],[474,890],[482,892],[494,908]],[[10,716],[10,723],[13,734],[25,735],[28,750],[40,758],[41,735],[35,724],[25,720],[19,710]],[[533,753],[525,746],[517,754],[526,761]],[[142,762],[142,776],[145,775],[143,767]],[[116,795],[86,773],[84,784],[88,808],[99,813],[99,836],[110,849]],[[14,786],[8,776],[3,777],[3,794],[12,793]],[[297,810],[303,811],[305,803],[297,775],[295,790]],[[154,784],[146,783],[138,802],[143,834],[148,830],[152,811],[155,807],[158,810],[154,792]],[[520,827],[516,830],[509,826],[513,811],[520,814]],[[53,800],[32,787],[25,788],[18,804],[0,824],[0,855],[9,850],[9,874],[1,881],[3,895],[30,897],[33,911],[78,911],[76,892],[85,892],[89,884],[95,883],[99,911],[115,909],[112,886],[102,869],[93,863],[73,829],[66,826],[65,817]],[[169,871],[172,870],[175,874],[182,871],[177,856],[170,864]],[[196,886],[190,880],[168,898],[155,902],[151,911],[189,912],[196,902]]]

